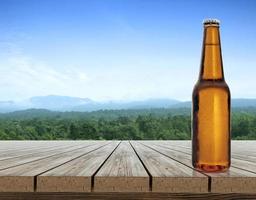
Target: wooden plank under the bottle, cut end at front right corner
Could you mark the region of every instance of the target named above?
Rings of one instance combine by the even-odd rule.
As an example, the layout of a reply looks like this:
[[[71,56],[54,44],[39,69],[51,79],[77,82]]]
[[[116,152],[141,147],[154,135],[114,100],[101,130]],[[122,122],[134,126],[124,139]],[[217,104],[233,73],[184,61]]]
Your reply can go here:
[[[153,144],[152,142],[142,142],[149,148],[153,148],[164,155],[169,156],[175,160],[192,168],[191,165],[191,155],[187,153],[182,153],[181,151],[172,150],[170,148],[164,147],[164,145],[159,146],[159,144]],[[168,145],[169,146],[169,145]],[[211,177],[211,192],[215,193],[253,193],[256,188],[256,174],[251,173],[242,169],[235,167],[230,167],[226,172],[222,173],[205,173]]]

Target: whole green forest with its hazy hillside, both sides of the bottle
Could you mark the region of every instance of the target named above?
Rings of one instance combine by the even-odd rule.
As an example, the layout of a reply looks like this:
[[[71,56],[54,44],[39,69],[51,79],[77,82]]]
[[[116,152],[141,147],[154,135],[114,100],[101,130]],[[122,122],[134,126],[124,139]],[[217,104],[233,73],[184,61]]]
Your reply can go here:
[[[256,108],[236,108],[232,139],[256,139]],[[188,140],[189,108],[53,112],[30,109],[0,114],[1,140]]]

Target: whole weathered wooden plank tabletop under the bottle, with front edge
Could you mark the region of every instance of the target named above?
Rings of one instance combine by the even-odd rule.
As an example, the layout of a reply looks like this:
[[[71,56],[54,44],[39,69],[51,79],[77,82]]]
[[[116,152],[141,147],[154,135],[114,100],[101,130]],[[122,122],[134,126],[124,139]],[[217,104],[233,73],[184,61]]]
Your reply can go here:
[[[232,166],[224,173],[193,169],[190,141],[0,141],[0,199],[14,192],[39,199],[128,192],[256,199],[256,141],[232,141]]]

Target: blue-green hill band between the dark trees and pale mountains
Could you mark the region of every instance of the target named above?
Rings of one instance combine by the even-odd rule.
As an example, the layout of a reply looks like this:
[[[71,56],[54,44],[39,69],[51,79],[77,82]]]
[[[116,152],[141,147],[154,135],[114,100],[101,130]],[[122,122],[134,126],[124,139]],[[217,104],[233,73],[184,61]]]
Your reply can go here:
[[[256,107],[234,107],[232,114],[256,115]],[[78,111],[50,111],[46,109],[27,109],[9,113],[0,113],[0,119],[26,120],[26,119],[105,119],[113,120],[122,117],[138,117],[139,115],[154,115],[168,117],[176,115],[189,116],[191,108],[151,108],[151,109],[120,109],[120,110],[97,110],[91,112]]]

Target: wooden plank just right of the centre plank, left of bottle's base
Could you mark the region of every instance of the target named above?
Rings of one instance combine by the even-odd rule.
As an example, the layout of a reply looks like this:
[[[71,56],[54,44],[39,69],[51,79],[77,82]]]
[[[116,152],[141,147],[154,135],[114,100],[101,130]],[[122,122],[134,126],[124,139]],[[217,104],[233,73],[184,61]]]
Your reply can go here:
[[[208,192],[208,177],[138,142],[132,146],[152,176],[153,192]]]

